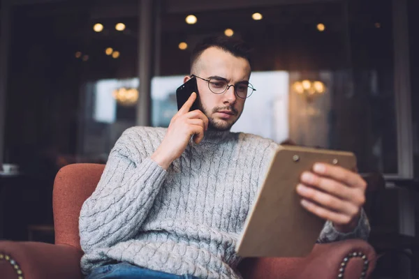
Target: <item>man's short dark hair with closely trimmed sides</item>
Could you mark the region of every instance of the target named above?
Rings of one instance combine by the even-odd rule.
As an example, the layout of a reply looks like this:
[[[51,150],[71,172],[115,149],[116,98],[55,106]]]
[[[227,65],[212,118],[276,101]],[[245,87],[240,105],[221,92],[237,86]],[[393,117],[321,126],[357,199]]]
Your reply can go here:
[[[252,50],[244,40],[227,36],[211,36],[204,38],[193,49],[191,54],[191,69],[193,64],[198,60],[200,54],[203,54],[203,52],[210,47],[218,47],[221,50],[230,52],[230,54],[233,54],[235,57],[244,58],[249,61],[249,64],[251,65]]]

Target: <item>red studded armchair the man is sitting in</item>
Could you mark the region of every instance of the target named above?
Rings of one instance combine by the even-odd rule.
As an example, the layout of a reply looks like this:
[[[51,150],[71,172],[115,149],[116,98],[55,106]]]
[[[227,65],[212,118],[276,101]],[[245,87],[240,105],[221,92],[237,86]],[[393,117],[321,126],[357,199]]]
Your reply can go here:
[[[0,241],[0,278],[82,278],[78,217],[82,204],[96,188],[104,165],[63,167],[54,182],[55,244]],[[368,278],[376,254],[362,240],[316,244],[304,258],[248,258],[239,266],[245,279]]]

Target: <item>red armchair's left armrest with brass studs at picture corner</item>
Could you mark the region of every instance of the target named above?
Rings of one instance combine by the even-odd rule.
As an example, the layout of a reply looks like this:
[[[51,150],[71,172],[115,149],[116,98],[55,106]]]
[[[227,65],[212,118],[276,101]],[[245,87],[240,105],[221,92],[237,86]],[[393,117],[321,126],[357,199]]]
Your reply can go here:
[[[22,273],[24,279],[81,279],[82,255],[81,250],[68,245],[0,241],[1,278],[18,279]]]

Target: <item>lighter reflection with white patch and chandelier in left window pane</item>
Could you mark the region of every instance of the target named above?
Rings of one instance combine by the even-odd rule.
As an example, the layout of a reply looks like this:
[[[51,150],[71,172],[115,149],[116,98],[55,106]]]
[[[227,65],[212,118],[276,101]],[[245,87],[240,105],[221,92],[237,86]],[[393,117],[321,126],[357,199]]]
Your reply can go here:
[[[138,78],[88,82],[84,120],[80,123],[78,160],[105,163],[124,130],[135,126]]]

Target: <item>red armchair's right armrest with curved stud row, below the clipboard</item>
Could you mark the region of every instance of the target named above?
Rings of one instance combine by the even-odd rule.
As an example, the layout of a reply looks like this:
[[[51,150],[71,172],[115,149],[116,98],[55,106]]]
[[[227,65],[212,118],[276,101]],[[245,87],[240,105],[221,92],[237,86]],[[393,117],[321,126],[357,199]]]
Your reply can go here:
[[[316,244],[303,258],[247,258],[240,263],[240,271],[245,279],[359,279],[368,278],[375,263],[374,248],[366,241],[351,239]]]

